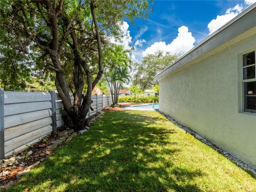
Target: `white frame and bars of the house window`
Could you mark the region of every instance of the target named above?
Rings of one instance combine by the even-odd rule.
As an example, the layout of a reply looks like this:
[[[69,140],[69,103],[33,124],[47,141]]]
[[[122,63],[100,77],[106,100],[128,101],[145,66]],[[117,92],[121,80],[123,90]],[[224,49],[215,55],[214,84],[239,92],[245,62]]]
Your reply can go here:
[[[252,50],[252,51],[249,51],[245,54],[248,54],[250,52],[253,52],[254,51],[254,54],[255,54],[255,61],[254,61],[254,64],[252,65],[249,65],[249,66],[243,66],[243,58],[242,58],[242,87],[243,87],[243,112],[244,113],[253,113],[255,114],[256,113],[256,110],[254,109],[245,109],[245,97],[246,96],[250,96],[250,97],[256,97],[256,95],[245,95],[245,92],[244,92],[244,83],[248,83],[248,82],[256,82],[256,50]],[[243,55],[245,55],[243,54]],[[242,57],[243,57],[242,55]],[[255,66],[254,69],[255,69],[255,78],[251,78],[251,79],[244,79],[244,68],[247,68],[247,67],[251,67],[251,66]]]

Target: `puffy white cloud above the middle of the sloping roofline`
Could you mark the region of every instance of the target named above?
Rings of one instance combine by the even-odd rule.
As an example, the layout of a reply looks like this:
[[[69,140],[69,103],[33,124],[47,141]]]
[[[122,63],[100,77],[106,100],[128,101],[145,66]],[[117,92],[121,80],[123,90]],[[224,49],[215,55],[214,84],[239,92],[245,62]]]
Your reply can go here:
[[[169,51],[172,54],[187,52],[194,47],[195,38],[192,36],[191,32],[188,32],[188,28],[186,26],[181,26],[178,29],[178,36],[173,39],[170,44],[166,44],[165,42],[155,42],[153,45],[148,47],[142,55],[145,56],[147,54],[154,54],[157,51]]]

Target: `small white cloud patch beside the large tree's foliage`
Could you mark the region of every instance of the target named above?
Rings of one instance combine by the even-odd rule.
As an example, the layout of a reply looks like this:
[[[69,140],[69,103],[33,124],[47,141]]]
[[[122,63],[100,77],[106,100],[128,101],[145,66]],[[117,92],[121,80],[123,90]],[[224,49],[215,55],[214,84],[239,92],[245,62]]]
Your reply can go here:
[[[121,41],[116,41],[115,38],[111,37],[110,42],[115,43],[117,45],[123,45],[124,49],[130,50],[132,48],[130,46],[130,44],[132,43],[132,37],[130,35],[130,30],[128,30],[129,25],[127,22],[124,21],[120,28],[123,35],[123,37],[121,38]]]

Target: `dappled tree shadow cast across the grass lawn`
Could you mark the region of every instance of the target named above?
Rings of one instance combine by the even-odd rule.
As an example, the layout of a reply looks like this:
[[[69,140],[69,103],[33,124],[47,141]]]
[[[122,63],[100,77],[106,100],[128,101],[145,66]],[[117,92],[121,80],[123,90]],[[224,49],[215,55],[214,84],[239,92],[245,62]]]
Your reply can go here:
[[[173,164],[173,155],[182,149],[169,140],[175,130],[158,121],[140,113],[109,111],[11,190],[201,191],[190,181],[203,173]]]

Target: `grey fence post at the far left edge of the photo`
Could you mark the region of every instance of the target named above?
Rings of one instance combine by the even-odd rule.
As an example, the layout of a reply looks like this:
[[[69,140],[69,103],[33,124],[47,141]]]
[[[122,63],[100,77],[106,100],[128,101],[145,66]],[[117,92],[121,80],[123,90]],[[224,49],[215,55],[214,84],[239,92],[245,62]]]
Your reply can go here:
[[[0,89],[0,159],[4,159],[4,90]]]

